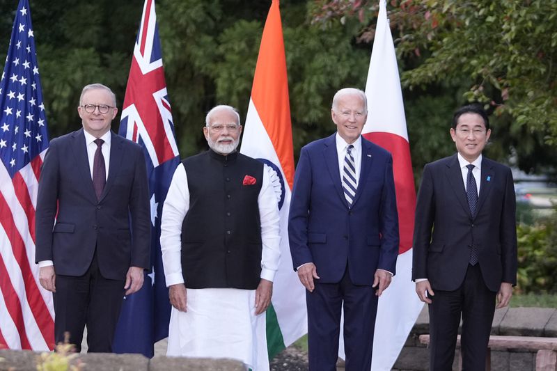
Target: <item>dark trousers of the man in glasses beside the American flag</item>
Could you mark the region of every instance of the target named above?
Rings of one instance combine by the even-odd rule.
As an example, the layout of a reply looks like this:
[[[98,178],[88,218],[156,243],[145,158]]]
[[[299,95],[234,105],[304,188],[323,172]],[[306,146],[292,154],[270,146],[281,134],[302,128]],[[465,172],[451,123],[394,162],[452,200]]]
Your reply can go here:
[[[54,267],[56,269],[56,267]],[[81,352],[81,340],[87,325],[88,352],[112,352],[112,340],[124,296],[125,281],[108,280],[99,270],[97,253],[83,276],[56,275],[54,293],[54,338],[70,343]]]

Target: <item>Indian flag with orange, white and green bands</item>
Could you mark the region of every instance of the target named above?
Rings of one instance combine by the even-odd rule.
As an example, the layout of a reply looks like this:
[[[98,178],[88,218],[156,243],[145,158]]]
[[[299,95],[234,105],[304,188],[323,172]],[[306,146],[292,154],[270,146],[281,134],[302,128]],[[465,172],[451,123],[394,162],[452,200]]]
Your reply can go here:
[[[294,153],[278,0],[272,1],[263,29],[240,152],[272,169],[281,216],[281,263],[274,279],[272,306],[267,309],[267,350],[272,358],[308,331],[306,294],[292,269],[288,244]]]

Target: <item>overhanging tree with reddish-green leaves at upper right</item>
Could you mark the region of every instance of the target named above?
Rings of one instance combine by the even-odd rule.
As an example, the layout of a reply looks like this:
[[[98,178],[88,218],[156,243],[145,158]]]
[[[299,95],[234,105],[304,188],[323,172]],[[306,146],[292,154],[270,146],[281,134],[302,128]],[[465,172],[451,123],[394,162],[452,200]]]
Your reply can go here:
[[[321,1],[315,19],[359,19],[373,37],[377,0]],[[525,171],[554,168],[557,147],[557,2],[392,0],[391,28],[407,91],[465,88],[493,113],[495,157],[512,152]],[[458,90],[458,89],[457,89]]]

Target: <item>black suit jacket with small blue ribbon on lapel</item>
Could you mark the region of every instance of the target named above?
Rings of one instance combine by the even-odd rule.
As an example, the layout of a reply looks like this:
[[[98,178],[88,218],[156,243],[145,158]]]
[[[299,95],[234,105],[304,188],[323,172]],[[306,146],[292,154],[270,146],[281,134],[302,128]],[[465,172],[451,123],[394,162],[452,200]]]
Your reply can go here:
[[[472,241],[485,284],[517,281],[515,188],[508,166],[483,157],[480,197],[472,217],[457,155],[427,164],[418,191],[412,279],[433,290],[456,290],[464,281]]]

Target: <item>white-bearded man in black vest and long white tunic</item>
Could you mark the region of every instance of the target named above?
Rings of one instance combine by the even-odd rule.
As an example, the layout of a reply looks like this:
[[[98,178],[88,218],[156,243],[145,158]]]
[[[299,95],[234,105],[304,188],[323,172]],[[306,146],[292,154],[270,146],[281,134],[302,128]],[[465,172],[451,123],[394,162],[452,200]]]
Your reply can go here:
[[[168,356],[234,358],[269,370],[265,310],[278,269],[278,203],[269,169],[238,153],[240,116],[205,118],[210,150],[182,161],[164,202],[162,260],[173,306]]]

